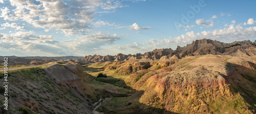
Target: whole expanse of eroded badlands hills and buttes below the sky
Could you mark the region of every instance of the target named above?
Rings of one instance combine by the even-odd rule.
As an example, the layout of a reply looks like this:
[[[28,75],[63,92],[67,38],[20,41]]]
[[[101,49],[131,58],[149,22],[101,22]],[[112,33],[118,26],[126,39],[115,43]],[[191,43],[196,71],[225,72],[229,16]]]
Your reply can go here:
[[[202,39],[144,54],[12,59],[14,67],[57,64],[10,70],[9,110],[1,87],[2,113],[256,113],[256,41]]]

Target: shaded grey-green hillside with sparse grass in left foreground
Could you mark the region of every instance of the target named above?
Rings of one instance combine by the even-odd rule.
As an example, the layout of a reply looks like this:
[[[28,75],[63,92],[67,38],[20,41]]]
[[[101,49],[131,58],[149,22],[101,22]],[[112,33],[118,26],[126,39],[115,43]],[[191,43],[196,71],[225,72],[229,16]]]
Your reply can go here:
[[[43,68],[14,70],[9,74],[9,113],[91,113],[92,102],[87,95],[79,94],[68,83],[57,84]],[[3,105],[2,93],[0,98]]]

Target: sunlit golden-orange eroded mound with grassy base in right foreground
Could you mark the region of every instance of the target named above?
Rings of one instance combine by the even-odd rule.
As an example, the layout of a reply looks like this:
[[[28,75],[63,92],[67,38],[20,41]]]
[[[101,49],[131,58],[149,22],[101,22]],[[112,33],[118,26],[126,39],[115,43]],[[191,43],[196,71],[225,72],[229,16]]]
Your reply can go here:
[[[118,72],[128,63],[114,62],[101,72],[118,78]],[[130,72],[124,79],[134,94],[108,98],[96,110],[105,113],[255,113],[255,56],[207,54],[186,57],[165,66],[160,66],[163,62],[149,63],[151,67]],[[111,66],[116,69],[110,70]]]

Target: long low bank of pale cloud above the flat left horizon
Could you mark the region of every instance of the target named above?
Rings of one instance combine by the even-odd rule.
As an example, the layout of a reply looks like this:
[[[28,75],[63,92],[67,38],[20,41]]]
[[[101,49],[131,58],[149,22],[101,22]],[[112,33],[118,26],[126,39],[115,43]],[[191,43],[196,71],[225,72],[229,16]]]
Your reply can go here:
[[[18,50],[19,52],[32,52],[46,55],[79,55],[101,49],[101,46],[113,44],[127,35],[105,34],[94,32],[81,35],[78,38],[66,41],[56,41],[53,36],[35,35],[34,32],[16,32],[11,35],[0,34],[0,48]]]

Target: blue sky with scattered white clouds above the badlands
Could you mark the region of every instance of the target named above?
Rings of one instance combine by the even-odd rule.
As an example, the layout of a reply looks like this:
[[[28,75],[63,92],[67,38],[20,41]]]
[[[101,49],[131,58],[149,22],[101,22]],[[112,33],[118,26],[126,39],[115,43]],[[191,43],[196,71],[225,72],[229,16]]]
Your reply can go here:
[[[256,1],[0,0],[0,55],[85,56],[256,40]]]

